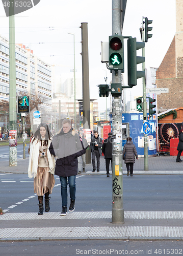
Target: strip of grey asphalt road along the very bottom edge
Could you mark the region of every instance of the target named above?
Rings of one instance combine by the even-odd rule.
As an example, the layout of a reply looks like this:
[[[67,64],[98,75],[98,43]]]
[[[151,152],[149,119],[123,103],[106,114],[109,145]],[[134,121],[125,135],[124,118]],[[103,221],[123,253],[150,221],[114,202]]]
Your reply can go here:
[[[1,242],[4,256],[182,255],[182,241],[66,240]]]

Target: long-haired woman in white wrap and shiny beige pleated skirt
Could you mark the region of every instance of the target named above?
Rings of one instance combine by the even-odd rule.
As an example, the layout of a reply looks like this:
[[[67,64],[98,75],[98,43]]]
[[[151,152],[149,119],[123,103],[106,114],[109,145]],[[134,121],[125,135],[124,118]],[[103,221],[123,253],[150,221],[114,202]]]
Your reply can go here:
[[[49,194],[55,185],[55,157],[50,154],[52,135],[46,123],[40,123],[37,131],[31,138],[28,175],[34,177],[34,193],[38,196],[39,212],[43,214],[43,196],[45,196],[45,211],[49,211]]]

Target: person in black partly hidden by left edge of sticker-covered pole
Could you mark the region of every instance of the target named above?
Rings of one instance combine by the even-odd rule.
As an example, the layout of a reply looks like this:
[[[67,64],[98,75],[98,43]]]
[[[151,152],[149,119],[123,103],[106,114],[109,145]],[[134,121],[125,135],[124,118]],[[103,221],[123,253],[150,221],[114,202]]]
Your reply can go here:
[[[104,155],[104,158],[106,160],[106,172],[107,177],[110,177],[109,175],[109,165],[111,161],[111,169],[112,169],[112,151],[113,151],[113,139],[112,139],[112,133],[108,133],[108,138],[103,141],[102,145],[102,153]]]

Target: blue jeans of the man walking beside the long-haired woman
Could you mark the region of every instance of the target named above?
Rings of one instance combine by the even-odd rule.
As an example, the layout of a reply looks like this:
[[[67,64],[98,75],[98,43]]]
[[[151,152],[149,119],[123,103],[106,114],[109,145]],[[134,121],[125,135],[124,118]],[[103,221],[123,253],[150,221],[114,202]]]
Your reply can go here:
[[[69,183],[70,199],[75,200],[75,175],[69,177],[60,177],[62,207],[67,206],[67,184]],[[68,183],[67,183],[68,180]]]

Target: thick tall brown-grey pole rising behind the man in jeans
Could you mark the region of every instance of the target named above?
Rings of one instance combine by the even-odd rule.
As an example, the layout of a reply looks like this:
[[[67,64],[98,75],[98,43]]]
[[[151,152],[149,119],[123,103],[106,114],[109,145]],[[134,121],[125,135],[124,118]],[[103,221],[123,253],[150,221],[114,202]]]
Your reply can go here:
[[[83,128],[90,129],[90,87],[88,61],[88,23],[81,23],[82,29],[82,76],[83,76]],[[86,163],[91,163],[90,148],[86,151]]]

